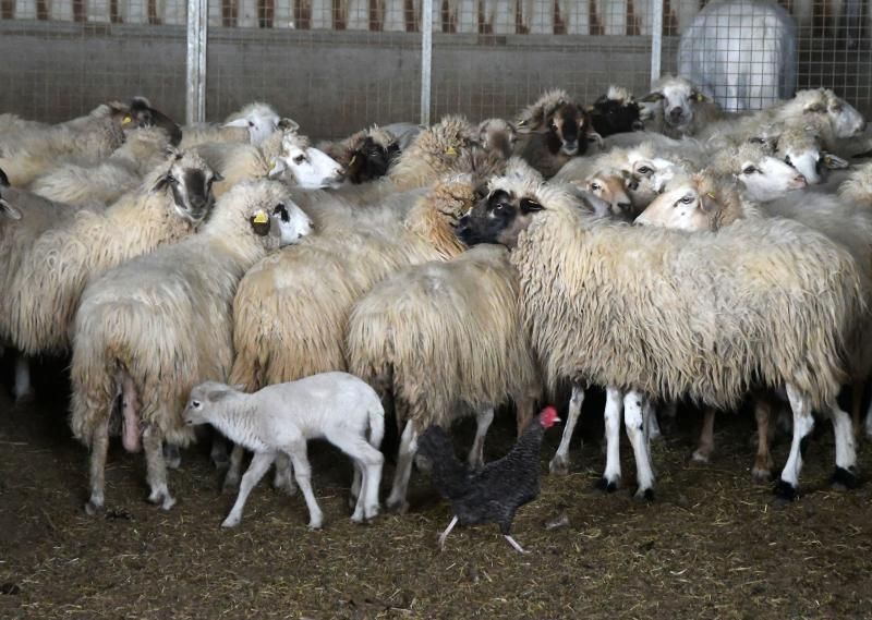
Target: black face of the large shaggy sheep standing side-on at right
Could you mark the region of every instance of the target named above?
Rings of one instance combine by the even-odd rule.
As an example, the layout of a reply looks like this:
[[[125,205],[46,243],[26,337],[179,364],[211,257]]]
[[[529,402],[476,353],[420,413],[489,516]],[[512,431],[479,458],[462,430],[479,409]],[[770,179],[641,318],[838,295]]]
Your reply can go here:
[[[460,219],[457,236],[468,246],[499,243],[506,247],[514,247],[518,235],[542,209],[542,205],[533,196],[518,196],[505,190],[494,190]]]

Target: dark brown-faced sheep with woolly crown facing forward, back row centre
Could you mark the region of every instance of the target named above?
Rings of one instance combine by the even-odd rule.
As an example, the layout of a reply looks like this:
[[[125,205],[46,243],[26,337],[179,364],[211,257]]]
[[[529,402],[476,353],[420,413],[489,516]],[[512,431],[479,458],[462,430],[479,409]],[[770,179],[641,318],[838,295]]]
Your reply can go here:
[[[560,89],[544,93],[521,111],[514,124],[521,135],[516,154],[546,179],[570,158],[584,155],[589,142],[600,139],[584,108]]]

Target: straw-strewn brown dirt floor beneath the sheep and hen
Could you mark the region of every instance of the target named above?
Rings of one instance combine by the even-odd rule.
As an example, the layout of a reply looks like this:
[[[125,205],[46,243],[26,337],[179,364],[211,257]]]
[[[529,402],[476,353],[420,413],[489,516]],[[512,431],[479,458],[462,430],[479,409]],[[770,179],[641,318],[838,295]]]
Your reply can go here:
[[[625,488],[594,489],[602,401],[589,399],[594,423],[569,476],[545,473],[560,429],[543,446],[543,493],[513,528],[531,554],[513,551],[493,525],[456,528],[440,552],[450,508],[425,476],[413,475],[408,514],[354,525],[350,466],[322,445],[311,449],[320,532],[307,531],[302,498],[266,483],[242,524],[220,528],[233,498],[218,493],[203,446],[171,473],[170,512],[145,501],[142,457],[113,446],[108,510],[89,518],[86,451],[70,436],[63,384],[39,388],[25,405],[0,389],[3,619],[872,618],[872,484],[829,488],[828,426],[809,447],[804,495],[783,504],[751,482],[748,417],[718,421],[716,455],[700,466],[688,462],[694,418],[681,416],[654,446],[656,500],[640,503],[626,445]],[[470,430],[459,428],[460,445]],[[487,457],[504,453],[512,433],[498,417]],[[787,448],[778,443],[778,463]],[[860,454],[861,471],[872,471],[868,442]],[[392,473],[388,465],[383,499]]]

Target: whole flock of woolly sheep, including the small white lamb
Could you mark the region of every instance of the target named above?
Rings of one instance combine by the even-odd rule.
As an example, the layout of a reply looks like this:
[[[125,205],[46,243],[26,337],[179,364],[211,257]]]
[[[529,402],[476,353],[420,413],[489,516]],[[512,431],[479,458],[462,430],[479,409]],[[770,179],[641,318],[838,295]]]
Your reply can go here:
[[[495,411],[513,403],[520,434],[561,386],[553,473],[596,385],[606,489],[621,411],[637,494],[652,497],[657,413],[700,405],[705,461],[715,412],[748,397],[756,478],[786,403],[776,490],[798,491],[812,411],[833,422],[835,478],[851,486],[872,370],[864,129],[831,90],[726,114],[671,76],[641,99],[552,90],[511,121],[373,126],[318,148],[264,104],[184,127],[142,97],[56,125],[2,114],[0,343],[19,354],[19,399],[28,356],[72,352],[89,513],[110,436],[144,450],[149,500],[170,509],[167,467],[208,422],[235,442],[228,454],[213,438],[226,487],[255,452],[225,525],[274,462],[322,525],[311,437],[352,458],[353,519],[371,519],[385,410],[400,430],[386,504],[404,510],[428,426],[474,416],[480,466]],[[837,403],[848,386],[852,415]]]

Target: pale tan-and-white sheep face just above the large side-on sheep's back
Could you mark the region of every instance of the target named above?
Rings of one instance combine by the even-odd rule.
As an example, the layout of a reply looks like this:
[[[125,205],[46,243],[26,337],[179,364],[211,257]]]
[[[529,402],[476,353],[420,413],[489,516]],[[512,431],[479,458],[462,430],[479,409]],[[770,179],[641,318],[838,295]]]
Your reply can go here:
[[[665,191],[635,218],[635,223],[677,230],[710,230],[712,216],[720,209],[715,194],[700,192],[692,182]]]

